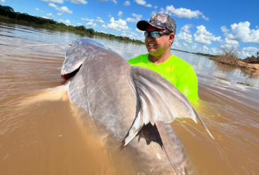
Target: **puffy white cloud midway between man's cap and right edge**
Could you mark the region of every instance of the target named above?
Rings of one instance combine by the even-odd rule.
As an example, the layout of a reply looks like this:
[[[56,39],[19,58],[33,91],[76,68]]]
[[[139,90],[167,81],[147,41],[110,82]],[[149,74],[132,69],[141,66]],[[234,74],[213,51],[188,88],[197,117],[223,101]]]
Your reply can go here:
[[[195,41],[201,44],[211,44],[211,41],[221,41],[221,36],[215,37],[203,25],[197,26],[194,34]]]

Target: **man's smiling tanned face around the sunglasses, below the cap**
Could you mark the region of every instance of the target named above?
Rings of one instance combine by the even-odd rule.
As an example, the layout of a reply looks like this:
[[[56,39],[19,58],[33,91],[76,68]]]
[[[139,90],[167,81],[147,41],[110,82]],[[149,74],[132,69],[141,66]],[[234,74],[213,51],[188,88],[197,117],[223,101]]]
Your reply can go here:
[[[158,29],[151,25],[148,26],[146,31],[167,31],[166,29]],[[148,53],[152,55],[153,57],[160,57],[165,52],[170,51],[171,43],[169,42],[169,36],[162,34],[160,35],[160,38],[152,38],[151,36],[148,36],[148,38],[145,39],[146,48],[148,50]]]

